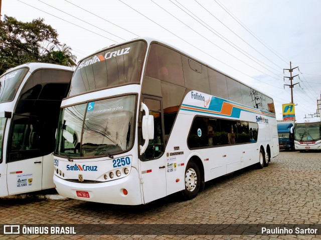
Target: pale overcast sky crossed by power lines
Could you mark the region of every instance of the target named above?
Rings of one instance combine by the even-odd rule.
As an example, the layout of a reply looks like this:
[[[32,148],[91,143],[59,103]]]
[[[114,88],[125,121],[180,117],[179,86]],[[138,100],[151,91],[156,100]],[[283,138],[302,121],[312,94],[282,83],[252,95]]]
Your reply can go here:
[[[25,3],[24,3],[25,2]],[[38,9],[36,9],[38,8]],[[77,60],[138,36],[166,41],[266,93],[276,117],[316,112],[321,93],[320,0],[2,0],[2,18],[44,18]]]

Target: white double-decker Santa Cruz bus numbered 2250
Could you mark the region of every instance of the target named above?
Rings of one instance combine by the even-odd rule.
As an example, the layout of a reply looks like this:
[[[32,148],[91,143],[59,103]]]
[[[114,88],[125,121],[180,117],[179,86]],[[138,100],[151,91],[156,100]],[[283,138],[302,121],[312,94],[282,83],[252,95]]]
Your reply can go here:
[[[205,181],[277,154],[270,97],[140,38],[80,61],[61,105],[54,182],[59,194],[94,202],[190,199]]]

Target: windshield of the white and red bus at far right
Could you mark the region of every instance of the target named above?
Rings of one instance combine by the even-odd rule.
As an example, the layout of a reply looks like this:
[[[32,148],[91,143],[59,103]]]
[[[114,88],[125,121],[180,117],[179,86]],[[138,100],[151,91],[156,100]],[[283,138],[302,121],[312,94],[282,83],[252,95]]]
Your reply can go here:
[[[316,141],[320,139],[320,122],[295,124],[295,140]]]

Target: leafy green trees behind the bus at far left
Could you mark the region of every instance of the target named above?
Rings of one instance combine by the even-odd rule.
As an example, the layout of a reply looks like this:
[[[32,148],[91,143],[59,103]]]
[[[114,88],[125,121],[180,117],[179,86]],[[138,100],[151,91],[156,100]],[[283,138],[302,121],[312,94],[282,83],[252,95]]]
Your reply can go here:
[[[43,18],[22,22],[5,15],[0,22],[0,74],[26,62],[74,66],[76,56],[71,50],[59,42],[57,31]]]

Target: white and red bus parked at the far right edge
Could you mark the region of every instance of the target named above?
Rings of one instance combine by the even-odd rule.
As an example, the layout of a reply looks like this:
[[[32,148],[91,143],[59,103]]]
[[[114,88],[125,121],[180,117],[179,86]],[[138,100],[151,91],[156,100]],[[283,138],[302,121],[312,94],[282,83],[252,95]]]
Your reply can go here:
[[[310,117],[294,122],[294,146],[296,150],[321,150],[321,118]]]

